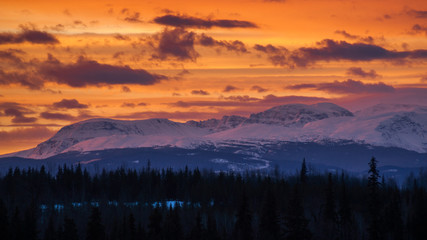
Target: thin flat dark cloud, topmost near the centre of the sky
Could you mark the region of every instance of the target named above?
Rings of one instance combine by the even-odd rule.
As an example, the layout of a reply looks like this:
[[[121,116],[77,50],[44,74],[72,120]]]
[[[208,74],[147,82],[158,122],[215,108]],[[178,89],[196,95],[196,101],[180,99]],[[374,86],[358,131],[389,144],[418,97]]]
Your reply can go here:
[[[157,24],[182,27],[182,28],[199,28],[209,29],[212,27],[220,28],[257,28],[255,23],[249,21],[230,20],[230,19],[202,19],[186,15],[171,15],[167,14],[161,17],[156,17],[153,20]]]

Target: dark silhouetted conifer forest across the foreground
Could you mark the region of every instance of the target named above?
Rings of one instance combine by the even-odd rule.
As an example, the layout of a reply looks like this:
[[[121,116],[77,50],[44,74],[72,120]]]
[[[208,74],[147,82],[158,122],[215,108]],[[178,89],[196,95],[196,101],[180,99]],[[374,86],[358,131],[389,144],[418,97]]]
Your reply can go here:
[[[367,176],[143,169],[55,174],[10,169],[0,177],[0,238],[426,239],[427,174],[402,186],[377,161]]]

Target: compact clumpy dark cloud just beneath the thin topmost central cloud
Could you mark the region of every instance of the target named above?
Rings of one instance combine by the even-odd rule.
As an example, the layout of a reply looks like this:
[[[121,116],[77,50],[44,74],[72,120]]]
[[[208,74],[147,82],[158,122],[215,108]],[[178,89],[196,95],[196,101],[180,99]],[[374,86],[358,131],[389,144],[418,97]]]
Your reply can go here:
[[[164,29],[154,37],[157,46],[154,47],[156,53],[152,57],[160,60],[172,57],[181,61],[196,61],[199,53],[194,49],[195,37],[194,32],[182,28]]]

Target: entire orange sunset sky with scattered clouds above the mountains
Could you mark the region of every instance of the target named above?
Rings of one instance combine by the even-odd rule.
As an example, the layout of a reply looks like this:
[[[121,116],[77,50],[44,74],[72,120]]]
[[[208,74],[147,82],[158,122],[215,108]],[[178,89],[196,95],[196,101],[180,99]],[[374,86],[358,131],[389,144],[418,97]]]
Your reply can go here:
[[[425,0],[2,0],[0,154],[90,118],[427,105]]]

